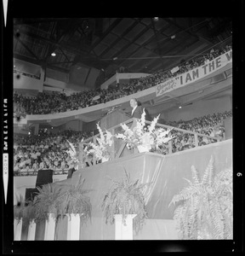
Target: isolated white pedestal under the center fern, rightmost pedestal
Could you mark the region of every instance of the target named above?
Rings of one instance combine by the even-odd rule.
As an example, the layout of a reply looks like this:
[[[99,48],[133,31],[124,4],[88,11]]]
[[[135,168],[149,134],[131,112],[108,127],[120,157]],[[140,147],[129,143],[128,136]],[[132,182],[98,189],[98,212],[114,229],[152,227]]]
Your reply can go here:
[[[122,223],[122,214],[115,214],[115,240],[133,240],[133,218],[137,214],[128,214],[126,225]]]

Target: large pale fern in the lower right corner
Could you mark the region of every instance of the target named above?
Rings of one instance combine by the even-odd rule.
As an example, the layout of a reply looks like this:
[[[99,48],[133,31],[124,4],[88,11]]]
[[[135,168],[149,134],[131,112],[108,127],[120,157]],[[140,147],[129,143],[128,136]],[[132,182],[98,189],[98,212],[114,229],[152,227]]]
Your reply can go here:
[[[202,180],[191,166],[192,182],[174,195],[169,206],[177,203],[174,211],[176,230],[183,240],[232,239],[233,203],[232,171],[214,173],[214,159],[208,163]]]

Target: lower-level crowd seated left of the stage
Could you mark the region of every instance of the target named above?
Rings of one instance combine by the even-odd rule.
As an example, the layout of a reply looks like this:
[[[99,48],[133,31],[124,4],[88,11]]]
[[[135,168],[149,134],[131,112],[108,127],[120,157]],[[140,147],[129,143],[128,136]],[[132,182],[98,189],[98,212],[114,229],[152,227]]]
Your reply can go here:
[[[40,135],[40,134],[39,134]],[[66,130],[55,134],[24,137],[14,135],[14,175],[35,175],[38,170],[51,169],[55,173],[67,173],[74,166],[66,150],[71,142],[78,150],[82,139],[92,137],[93,132]]]

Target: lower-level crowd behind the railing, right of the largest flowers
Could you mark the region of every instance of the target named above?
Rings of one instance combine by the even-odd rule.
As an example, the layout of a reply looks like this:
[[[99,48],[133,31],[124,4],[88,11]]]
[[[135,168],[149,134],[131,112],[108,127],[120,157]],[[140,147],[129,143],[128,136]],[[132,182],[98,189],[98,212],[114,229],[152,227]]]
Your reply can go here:
[[[208,114],[188,121],[179,120],[168,122],[166,125],[208,136],[197,136],[198,146],[202,146],[217,141],[223,141],[225,139],[224,119],[230,117],[232,117],[231,110],[225,111],[224,113]],[[172,143],[172,153],[195,147],[194,135],[174,130],[171,131],[171,134],[175,137]],[[211,137],[214,137],[215,140]]]

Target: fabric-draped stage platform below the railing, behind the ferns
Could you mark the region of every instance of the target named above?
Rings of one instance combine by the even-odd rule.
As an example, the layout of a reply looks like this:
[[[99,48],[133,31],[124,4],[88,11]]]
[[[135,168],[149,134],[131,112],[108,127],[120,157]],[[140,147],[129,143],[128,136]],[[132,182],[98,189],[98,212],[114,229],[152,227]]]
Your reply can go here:
[[[91,223],[88,221],[81,226],[80,240],[114,240],[115,226],[105,224],[101,203],[111,186],[108,177],[120,180],[125,169],[132,179],[139,179],[140,183],[151,183],[144,191],[148,219],[140,233],[134,234],[134,240],[178,240],[173,221],[174,207],[168,207],[168,204],[174,195],[188,185],[184,177],[191,179],[191,166],[195,166],[202,177],[211,155],[214,156],[214,172],[231,167],[232,139],[168,155],[128,155],[83,168],[74,172],[71,178],[52,185],[77,183],[78,176],[82,175],[85,178],[84,189],[93,191],[88,194],[92,203]],[[56,224],[55,239],[66,240],[66,226],[66,218]],[[43,232],[42,225],[38,225],[36,240],[43,240]]]

